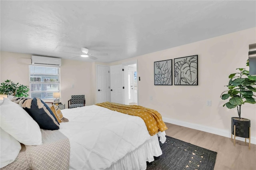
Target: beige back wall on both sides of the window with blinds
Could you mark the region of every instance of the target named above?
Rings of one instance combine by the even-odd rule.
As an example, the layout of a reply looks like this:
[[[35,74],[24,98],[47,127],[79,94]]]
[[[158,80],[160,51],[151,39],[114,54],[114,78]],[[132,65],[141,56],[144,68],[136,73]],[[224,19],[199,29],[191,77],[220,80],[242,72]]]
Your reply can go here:
[[[15,83],[29,85],[29,59],[31,55],[1,51],[0,56],[0,82],[10,79]],[[93,63],[62,59],[60,67],[60,102],[68,107],[71,95],[84,94],[86,105],[93,105],[94,93],[94,67]],[[74,88],[72,88],[74,85]]]

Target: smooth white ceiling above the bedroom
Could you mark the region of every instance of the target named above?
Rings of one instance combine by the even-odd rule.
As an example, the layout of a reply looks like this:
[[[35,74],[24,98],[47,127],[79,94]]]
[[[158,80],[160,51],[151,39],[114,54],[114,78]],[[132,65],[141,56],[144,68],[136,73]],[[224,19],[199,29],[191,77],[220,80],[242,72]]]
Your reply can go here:
[[[113,62],[256,27],[256,1],[0,1],[1,51]],[[98,55],[96,53],[108,53]]]

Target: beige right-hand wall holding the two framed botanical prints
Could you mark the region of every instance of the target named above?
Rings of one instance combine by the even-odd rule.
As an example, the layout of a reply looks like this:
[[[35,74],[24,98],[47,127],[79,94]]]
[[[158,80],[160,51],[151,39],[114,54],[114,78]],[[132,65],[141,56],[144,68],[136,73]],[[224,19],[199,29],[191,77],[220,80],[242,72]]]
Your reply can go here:
[[[230,131],[230,118],[238,114],[222,107],[227,101],[220,94],[236,68],[248,69],[248,45],[255,42],[256,28],[252,28],[136,57],[140,105],[168,119]],[[154,61],[190,55],[198,55],[198,86],[154,85]],[[206,106],[207,100],[212,106]],[[241,116],[251,120],[252,136],[256,136],[256,105],[243,105]]]

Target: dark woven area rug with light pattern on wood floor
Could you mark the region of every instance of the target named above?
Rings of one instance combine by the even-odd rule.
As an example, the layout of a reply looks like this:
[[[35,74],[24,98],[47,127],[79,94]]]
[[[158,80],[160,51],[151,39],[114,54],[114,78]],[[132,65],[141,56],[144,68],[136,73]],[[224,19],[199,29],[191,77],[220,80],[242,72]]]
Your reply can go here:
[[[148,163],[147,170],[213,170],[217,152],[166,136],[163,154]]]

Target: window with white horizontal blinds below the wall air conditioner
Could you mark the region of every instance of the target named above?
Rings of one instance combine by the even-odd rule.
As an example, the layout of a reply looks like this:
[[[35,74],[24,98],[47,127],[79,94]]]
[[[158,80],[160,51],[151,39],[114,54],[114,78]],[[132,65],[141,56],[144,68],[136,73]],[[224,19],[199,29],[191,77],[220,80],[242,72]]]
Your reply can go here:
[[[30,97],[53,99],[60,92],[60,67],[30,65]]]

